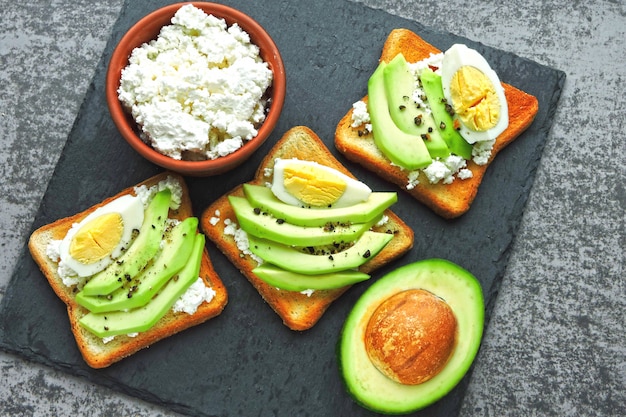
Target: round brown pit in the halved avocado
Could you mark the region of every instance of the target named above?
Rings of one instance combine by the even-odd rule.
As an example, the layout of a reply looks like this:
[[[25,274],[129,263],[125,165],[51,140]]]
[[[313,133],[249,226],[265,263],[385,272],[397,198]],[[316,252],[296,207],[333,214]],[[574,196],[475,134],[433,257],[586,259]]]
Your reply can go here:
[[[450,306],[423,289],[383,300],[368,321],[365,349],[388,378],[417,385],[437,375],[456,345],[457,321]]]

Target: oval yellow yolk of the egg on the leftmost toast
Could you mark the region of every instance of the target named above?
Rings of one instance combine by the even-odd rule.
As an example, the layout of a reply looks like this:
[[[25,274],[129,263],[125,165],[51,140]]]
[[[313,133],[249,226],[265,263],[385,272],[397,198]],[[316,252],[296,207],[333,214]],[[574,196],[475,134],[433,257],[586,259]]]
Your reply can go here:
[[[69,253],[82,264],[97,262],[117,246],[122,238],[123,220],[119,213],[107,213],[87,222],[74,235]]]

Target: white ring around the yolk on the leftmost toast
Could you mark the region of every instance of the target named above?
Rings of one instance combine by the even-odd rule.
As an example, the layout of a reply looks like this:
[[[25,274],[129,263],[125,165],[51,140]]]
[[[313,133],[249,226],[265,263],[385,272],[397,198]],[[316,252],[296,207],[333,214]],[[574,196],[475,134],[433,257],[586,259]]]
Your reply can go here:
[[[91,220],[108,213],[119,213],[122,217],[123,231],[117,245],[108,256],[90,264],[82,263],[73,258],[72,255],[70,255],[69,248],[76,233]],[[124,250],[128,248],[132,240],[133,230],[141,228],[143,217],[143,203],[141,199],[132,195],[124,195],[97,208],[79,223],[72,225],[71,229],[67,232],[59,245],[60,262],[63,263],[64,267],[69,267],[76,272],[79,277],[88,277],[102,271],[113,262],[113,260],[120,257]]]

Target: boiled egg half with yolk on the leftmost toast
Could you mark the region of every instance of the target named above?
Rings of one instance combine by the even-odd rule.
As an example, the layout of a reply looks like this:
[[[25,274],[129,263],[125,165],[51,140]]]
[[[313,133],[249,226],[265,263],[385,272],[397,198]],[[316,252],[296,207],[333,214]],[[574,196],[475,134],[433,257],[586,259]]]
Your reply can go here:
[[[143,203],[132,195],[97,208],[65,235],[59,245],[60,261],[80,277],[102,271],[128,248],[143,217]]]

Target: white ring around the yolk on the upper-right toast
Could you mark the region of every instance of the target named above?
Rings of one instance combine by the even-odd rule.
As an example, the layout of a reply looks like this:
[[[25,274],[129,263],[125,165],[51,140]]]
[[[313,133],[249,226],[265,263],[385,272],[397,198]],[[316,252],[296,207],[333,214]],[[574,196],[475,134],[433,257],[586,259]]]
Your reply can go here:
[[[472,66],[485,74],[489,81],[493,84],[496,95],[500,102],[500,119],[496,125],[485,131],[476,131],[468,127],[461,118],[456,119],[461,123],[459,133],[468,143],[476,143],[480,141],[494,140],[509,125],[509,110],[504,95],[504,88],[500,83],[498,74],[491,68],[487,60],[476,50],[471,49],[463,44],[455,44],[448,49],[444,55],[441,64],[441,83],[443,94],[448,103],[452,103],[450,95],[450,82],[454,74],[463,66]]]

